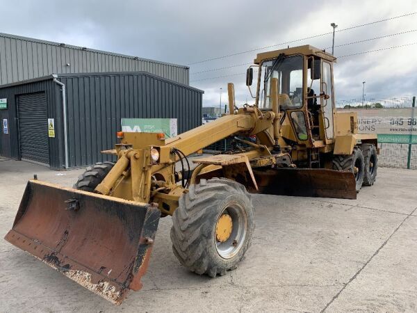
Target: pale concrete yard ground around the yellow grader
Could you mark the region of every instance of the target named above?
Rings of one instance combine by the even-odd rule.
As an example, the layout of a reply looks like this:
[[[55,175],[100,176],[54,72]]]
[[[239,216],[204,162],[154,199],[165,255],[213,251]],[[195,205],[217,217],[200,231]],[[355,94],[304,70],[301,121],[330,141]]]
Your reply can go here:
[[[82,171],[0,160],[1,238],[34,173],[72,186]],[[379,168],[358,200],[254,195],[252,246],[214,279],[179,264],[162,218],[144,287],[119,307],[0,239],[0,311],[416,312],[416,183],[416,170]]]

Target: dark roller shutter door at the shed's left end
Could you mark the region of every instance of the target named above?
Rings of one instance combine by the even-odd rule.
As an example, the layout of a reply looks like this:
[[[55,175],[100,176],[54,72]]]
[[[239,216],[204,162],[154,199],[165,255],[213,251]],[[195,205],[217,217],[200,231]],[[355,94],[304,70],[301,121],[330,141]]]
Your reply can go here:
[[[17,96],[20,158],[49,165],[47,97],[45,93]]]

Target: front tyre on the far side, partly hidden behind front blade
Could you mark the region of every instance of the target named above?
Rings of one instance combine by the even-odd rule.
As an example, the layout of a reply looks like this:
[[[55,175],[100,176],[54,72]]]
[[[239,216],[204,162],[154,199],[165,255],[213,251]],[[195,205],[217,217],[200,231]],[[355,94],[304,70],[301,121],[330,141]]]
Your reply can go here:
[[[85,168],[85,172],[79,175],[79,179],[74,184],[73,188],[90,191],[90,193],[92,193],[97,185],[103,181],[104,177],[106,177],[114,165],[115,163],[113,162],[98,162],[93,166],[88,166],[88,168]]]

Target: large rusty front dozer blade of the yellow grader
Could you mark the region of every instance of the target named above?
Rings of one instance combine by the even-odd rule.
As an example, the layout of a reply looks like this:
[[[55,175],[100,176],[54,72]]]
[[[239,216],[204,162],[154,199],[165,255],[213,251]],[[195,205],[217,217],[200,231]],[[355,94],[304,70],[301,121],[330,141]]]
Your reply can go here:
[[[142,287],[160,214],[150,204],[32,180],[5,239],[119,305]]]

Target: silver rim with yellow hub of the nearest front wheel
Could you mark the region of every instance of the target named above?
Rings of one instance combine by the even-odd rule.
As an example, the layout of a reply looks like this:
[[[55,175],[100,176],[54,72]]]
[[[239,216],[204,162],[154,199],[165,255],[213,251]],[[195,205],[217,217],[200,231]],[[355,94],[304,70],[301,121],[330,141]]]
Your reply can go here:
[[[231,232],[227,227],[231,220]],[[243,207],[228,204],[218,217],[214,232],[215,249],[223,259],[234,257],[243,247],[247,234],[247,217]]]

